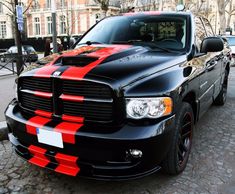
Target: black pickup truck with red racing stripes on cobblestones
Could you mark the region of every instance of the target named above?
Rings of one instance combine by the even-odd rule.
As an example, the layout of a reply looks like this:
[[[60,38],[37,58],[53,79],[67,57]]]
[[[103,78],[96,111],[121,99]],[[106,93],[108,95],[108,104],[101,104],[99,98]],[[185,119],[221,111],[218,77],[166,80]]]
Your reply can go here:
[[[30,163],[71,176],[178,174],[195,122],[226,101],[230,59],[191,13],[106,18],[19,76],[9,139]]]

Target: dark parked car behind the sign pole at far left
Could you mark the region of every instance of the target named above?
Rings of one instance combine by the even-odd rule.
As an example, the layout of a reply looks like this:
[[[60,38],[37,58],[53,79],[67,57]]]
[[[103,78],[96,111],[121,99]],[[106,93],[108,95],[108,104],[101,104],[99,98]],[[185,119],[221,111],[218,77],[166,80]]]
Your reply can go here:
[[[5,53],[0,54],[0,59],[2,62],[5,62],[7,60],[16,61],[17,53],[18,53],[17,47],[11,46]],[[38,55],[35,49],[30,45],[22,46],[22,54],[23,54],[23,60],[26,62],[35,62],[38,60]]]

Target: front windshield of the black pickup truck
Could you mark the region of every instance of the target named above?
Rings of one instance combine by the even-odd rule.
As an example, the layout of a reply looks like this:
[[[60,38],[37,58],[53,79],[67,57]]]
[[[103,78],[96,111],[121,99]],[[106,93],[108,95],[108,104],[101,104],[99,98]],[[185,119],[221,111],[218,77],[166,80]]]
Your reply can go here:
[[[91,29],[77,44],[135,44],[152,49],[185,49],[186,18],[149,15],[106,18]]]

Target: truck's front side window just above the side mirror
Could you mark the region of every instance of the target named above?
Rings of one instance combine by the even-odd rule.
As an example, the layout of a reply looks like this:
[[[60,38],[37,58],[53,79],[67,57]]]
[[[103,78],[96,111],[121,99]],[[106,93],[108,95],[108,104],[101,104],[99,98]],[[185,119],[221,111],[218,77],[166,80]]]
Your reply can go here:
[[[205,28],[202,24],[202,21],[200,18],[198,17],[195,17],[194,18],[195,20],[195,45],[197,47],[197,51],[200,51],[200,48],[201,48],[201,43],[203,41],[204,38],[207,37],[207,34],[206,34],[206,31],[205,31]]]

